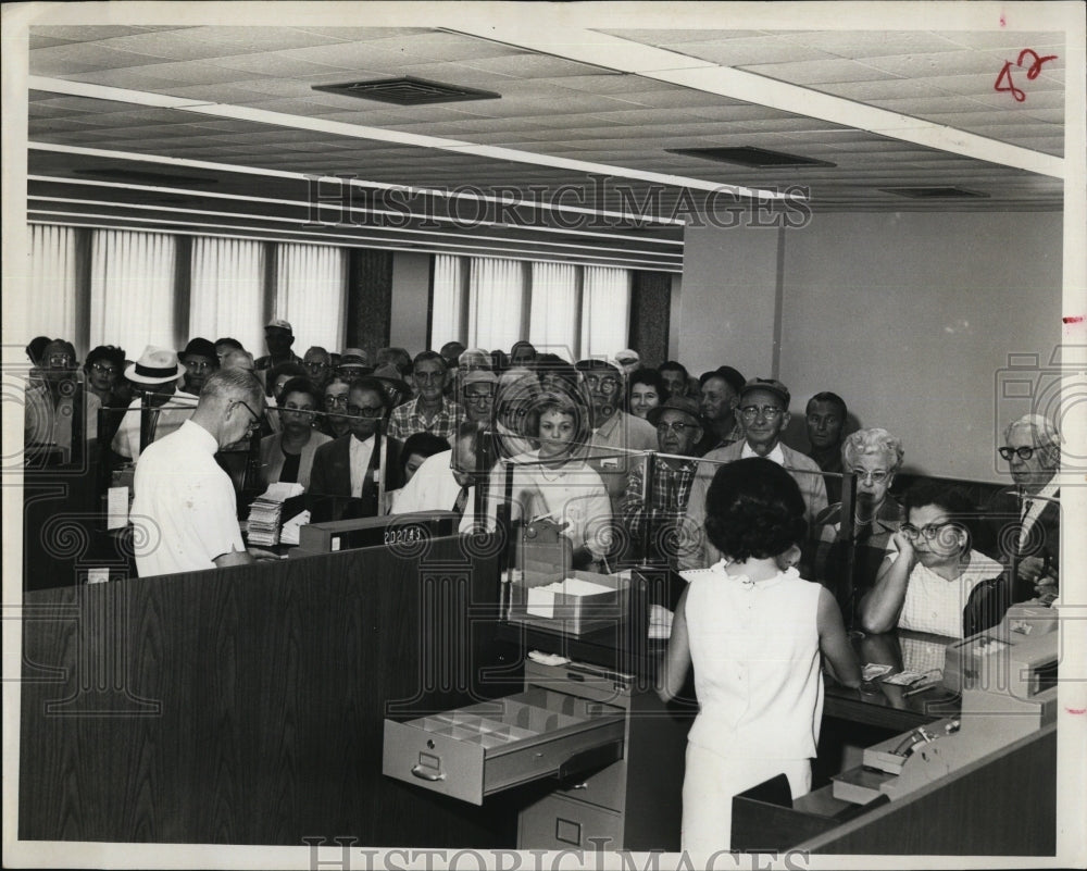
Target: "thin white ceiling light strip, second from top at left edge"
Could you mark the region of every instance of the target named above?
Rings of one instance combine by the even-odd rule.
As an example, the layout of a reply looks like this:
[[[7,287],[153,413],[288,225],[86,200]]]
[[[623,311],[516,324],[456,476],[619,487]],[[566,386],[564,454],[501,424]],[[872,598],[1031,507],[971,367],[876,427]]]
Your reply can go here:
[[[582,206],[564,206],[564,204],[552,204],[552,203],[535,203],[525,202],[524,200],[514,201],[510,197],[491,197],[487,195],[480,196],[479,194],[463,191],[459,194],[453,194],[449,190],[442,190],[441,188],[429,188],[429,187],[413,187],[411,185],[392,185],[387,182],[364,182],[359,178],[342,178],[336,175],[307,175],[304,173],[289,172],[287,170],[273,170],[273,169],[261,169],[257,166],[248,166],[240,163],[217,163],[209,160],[193,160],[191,158],[171,158],[164,154],[142,154],[134,151],[116,151],[108,148],[87,148],[84,146],[70,146],[70,145],[58,145],[53,142],[27,142],[27,148],[36,151],[51,151],[61,154],[86,154],[88,157],[95,158],[109,158],[112,160],[129,160],[129,161],[140,161],[143,163],[159,163],[167,166],[188,166],[190,169],[197,170],[213,170],[217,172],[237,173],[239,175],[259,175],[268,176],[273,178],[291,178],[295,181],[310,181],[317,179],[318,182],[347,182],[348,184],[359,187],[359,188],[375,188],[377,190],[402,190],[408,194],[424,195],[432,197],[464,197],[465,199],[476,199],[483,200],[484,202],[495,202],[495,203],[505,203],[515,202],[516,204],[524,204],[532,208],[548,209],[550,211],[558,212],[573,212],[574,214],[602,214],[608,217],[623,217],[633,219],[637,221],[647,221],[653,224],[673,224],[682,225],[683,221],[673,217],[644,217],[641,215],[628,214],[627,212],[612,212],[612,211],[597,211],[596,209],[588,209]],[[787,197],[786,199],[799,199],[799,197]]]

